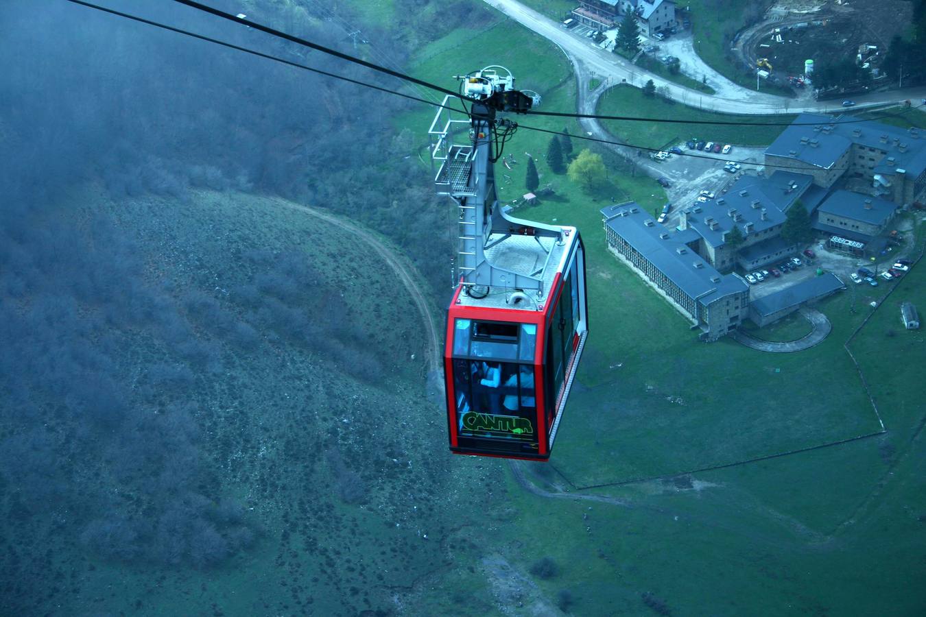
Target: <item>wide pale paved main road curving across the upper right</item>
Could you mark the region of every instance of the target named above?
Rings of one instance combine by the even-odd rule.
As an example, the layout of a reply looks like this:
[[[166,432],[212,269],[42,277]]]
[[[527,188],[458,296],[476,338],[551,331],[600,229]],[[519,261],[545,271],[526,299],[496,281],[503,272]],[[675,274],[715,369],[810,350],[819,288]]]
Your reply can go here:
[[[835,111],[842,109],[838,102],[794,101],[782,96],[775,96],[736,86],[717,74],[709,78],[711,85],[718,90],[716,94],[700,93],[691,88],[685,88],[671,81],[662,79],[644,71],[644,69],[631,64],[630,61],[601,49],[584,37],[576,36],[572,31],[564,29],[561,25],[548,19],[537,11],[523,6],[516,0],[485,0],[485,3],[494,6],[510,19],[518,21],[526,28],[537,32],[551,43],[556,43],[563,52],[571,57],[581,60],[585,67],[611,84],[626,80],[635,86],[642,86],[646,80],[652,79],[657,87],[665,86],[669,89],[671,98],[688,103],[700,105],[704,109],[722,111],[736,114],[783,114],[800,111]],[[694,54],[694,50],[692,51]],[[682,56],[680,56],[682,57]],[[691,58],[685,58],[687,63],[694,63]],[[694,65],[693,65],[694,66]],[[699,66],[706,66],[701,63]],[[696,68],[693,68],[696,73]],[[712,71],[713,73],[713,71]],[[721,81],[722,80],[722,81]],[[726,82],[726,83],[724,83]],[[716,83],[716,85],[715,85]],[[728,85],[728,84],[732,84]],[[911,99],[918,101],[926,97],[926,88],[895,91],[889,93],[873,93],[854,97],[857,107],[866,105],[884,105],[899,103]],[[834,106],[835,105],[835,106]]]

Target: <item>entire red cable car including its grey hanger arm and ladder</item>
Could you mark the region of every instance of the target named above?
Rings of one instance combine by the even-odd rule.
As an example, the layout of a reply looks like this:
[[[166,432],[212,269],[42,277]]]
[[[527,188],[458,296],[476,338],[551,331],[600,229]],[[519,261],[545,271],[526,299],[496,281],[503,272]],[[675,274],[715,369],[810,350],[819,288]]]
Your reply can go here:
[[[444,346],[450,450],[546,461],[588,335],[582,239],[498,204],[494,163],[518,125],[496,116],[526,113],[539,97],[515,90],[504,67],[457,79],[461,96],[444,97],[428,131],[437,193],[457,210]]]

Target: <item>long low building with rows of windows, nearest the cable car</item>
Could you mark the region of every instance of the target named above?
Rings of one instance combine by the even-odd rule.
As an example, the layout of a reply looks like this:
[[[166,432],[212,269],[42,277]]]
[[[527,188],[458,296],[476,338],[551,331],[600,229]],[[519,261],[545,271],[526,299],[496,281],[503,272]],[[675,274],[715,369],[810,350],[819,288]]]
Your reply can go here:
[[[611,252],[700,327],[702,339],[719,339],[743,322],[749,286],[742,278],[721,275],[635,202],[607,206],[601,214]]]

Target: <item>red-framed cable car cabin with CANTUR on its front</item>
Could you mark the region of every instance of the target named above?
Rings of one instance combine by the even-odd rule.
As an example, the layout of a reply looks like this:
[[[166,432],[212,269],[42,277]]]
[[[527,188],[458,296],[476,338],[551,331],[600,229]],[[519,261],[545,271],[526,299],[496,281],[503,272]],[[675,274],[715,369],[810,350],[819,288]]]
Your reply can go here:
[[[444,369],[450,449],[458,454],[546,461],[553,450],[588,333],[582,240],[575,228],[562,230],[562,242],[512,237],[505,247],[512,270],[544,264],[547,292],[539,297],[496,289],[476,296],[457,286]]]

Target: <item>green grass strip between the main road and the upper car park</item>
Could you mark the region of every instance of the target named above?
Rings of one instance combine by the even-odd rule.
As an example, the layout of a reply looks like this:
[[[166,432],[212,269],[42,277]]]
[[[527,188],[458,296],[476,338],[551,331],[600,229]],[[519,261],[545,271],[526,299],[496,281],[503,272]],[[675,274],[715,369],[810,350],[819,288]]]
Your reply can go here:
[[[682,103],[688,103],[687,106]],[[617,86],[605,93],[598,103],[598,113],[606,116],[626,116],[628,110],[642,109],[645,117],[677,120],[699,120],[735,122],[749,120],[752,122],[787,123],[795,116],[732,116],[697,109],[696,99],[691,101],[667,101],[661,97],[647,98],[643,90],[632,86]],[[784,129],[783,126],[736,126],[736,125],[693,125],[657,124],[652,122],[605,121],[607,129],[620,140],[651,148],[661,148],[666,144],[684,142],[693,136],[705,141],[726,142],[736,145],[768,145]]]

